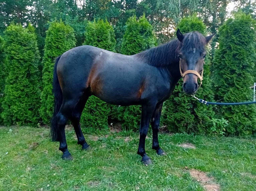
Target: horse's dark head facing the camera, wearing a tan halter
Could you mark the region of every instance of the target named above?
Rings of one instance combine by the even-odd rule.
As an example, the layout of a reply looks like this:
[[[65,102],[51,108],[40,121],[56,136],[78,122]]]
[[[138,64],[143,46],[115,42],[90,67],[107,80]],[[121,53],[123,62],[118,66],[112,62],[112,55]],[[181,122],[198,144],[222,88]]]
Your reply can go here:
[[[203,80],[203,67],[206,57],[205,46],[215,34],[204,37],[199,32],[190,32],[183,35],[179,29],[176,34],[181,42],[179,67],[183,78],[183,90],[185,94],[193,95],[197,92]],[[200,85],[198,85],[198,78],[200,79]]]

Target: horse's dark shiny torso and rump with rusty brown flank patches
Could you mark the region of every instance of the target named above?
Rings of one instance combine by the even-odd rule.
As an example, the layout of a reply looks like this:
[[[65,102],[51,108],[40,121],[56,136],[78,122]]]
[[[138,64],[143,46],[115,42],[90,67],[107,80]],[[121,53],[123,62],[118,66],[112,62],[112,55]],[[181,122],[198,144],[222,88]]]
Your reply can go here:
[[[65,52],[57,74],[63,93],[73,95],[88,89],[92,95],[117,105],[141,104],[163,86],[157,67],[145,60],[92,46]]]

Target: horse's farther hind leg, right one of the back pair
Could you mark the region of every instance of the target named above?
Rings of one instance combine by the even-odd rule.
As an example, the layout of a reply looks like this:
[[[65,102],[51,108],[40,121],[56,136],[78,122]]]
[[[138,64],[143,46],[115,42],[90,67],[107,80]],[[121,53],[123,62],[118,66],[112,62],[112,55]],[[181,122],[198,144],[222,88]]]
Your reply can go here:
[[[74,126],[74,129],[75,129],[75,132],[76,132],[76,135],[77,135],[77,144],[81,144],[82,149],[89,149],[90,148],[90,146],[85,141],[85,137],[84,137],[83,132],[82,132],[81,127],[80,127],[81,114],[82,114],[82,111],[85,107],[86,101],[88,100],[88,97],[89,97],[88,95],[84,95],[79,100],[79,102],[77,103],[77,105],[76,105],[76,107],[73,111],[72,117],[71,117],[71,121],[72,121],[72,124]]]

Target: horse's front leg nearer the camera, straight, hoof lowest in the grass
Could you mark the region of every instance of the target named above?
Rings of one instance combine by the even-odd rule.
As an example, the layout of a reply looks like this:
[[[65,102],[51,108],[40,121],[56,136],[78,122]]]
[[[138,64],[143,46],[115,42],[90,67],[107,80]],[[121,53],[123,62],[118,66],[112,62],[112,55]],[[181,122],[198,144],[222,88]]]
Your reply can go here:
[[[145,151],[145,139],[148,132],[150,118],[153,114],[155,105],[141,105],[141,120],[140,120],[140,140],[138,154],[142,157],[142,162],[146,165],[152,164],[151,159]]]

